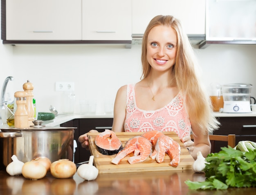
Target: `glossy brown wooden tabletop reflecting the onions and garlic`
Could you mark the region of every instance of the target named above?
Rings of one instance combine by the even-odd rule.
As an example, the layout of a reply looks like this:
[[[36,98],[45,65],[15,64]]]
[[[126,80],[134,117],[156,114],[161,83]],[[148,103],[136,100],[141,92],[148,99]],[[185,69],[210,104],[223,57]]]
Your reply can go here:
[[[256,188],[229,188],[225,191],[193,191],[184,183],[204,180],[203,173],[184,171],[157,171],[139,173],[104,173],[93,181],[85,181],[77,174],[69,179],[55,179],[47,174],[43,179],[29,180],[9,176],[0,171],[2,195],[254,195]]]

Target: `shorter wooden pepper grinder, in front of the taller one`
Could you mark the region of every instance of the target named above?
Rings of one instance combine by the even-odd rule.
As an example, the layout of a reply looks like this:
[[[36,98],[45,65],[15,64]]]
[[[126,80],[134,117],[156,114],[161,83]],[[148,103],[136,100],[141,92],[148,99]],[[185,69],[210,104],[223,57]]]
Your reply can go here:
[[[19,129],[28,128],[28,115],[26,109],[26,92],[17,91],[14,93],[16,98],[17,109],[14,113],[14,127]]]

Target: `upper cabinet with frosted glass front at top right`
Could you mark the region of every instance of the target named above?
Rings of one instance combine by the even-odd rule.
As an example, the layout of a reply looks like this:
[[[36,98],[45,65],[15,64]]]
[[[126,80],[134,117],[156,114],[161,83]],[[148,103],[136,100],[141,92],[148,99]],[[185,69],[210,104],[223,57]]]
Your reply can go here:
[[[209,44],[256,44],[256,0],[206,0],[205,34]]]

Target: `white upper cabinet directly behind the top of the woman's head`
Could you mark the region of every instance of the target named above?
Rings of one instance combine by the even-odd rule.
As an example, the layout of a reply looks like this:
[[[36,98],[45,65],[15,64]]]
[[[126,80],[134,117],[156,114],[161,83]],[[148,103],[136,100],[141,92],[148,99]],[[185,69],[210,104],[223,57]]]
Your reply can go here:
[[[144,34],[157,15],[172,15],[186,34],[205,34],[205,0],[132,0],[132,34]]]

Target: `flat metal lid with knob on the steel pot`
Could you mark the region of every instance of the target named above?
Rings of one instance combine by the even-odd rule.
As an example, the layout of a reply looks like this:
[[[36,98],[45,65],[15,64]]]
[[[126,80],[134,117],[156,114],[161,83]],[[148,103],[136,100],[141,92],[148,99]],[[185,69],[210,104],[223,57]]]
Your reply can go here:
[[[15,127],[9,127],[9,128],[3,128],[1,131],[3,132],[9,132],[9,131],[21,131],[21,130],[70,130],[70,129],[77,129],[77,127],[62,127],[62,126],[45,126],[42,125],[42,120],[34,120],[32,121],[34,125],[29,126],[26,129],[19,129]]]

